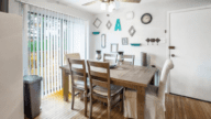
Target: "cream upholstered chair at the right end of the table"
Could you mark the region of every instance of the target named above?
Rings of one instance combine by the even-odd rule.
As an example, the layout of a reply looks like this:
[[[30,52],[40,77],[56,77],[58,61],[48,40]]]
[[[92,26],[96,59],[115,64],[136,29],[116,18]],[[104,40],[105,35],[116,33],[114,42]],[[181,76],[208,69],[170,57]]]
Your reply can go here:
[[[165,88],[168,74],[173,68],[173,61],[167,60],[162,71],[159,86],[147,86],[145,90],[145,119],[165,119]]]

